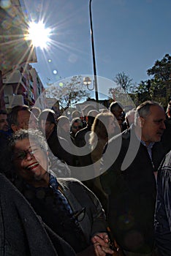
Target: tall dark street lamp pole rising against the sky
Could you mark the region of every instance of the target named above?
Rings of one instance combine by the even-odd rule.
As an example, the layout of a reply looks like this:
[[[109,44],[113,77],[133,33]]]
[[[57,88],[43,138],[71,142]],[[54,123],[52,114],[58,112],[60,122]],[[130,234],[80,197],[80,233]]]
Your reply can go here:
[[[92,14],[91,14],[91,0],[89,1],[89,13],[90,13],[90,23],[91,23],[91,47],[92,47],[92,55],[93,55],[93,64],[94,64],[94,89],[96,102],[99,102],[98,89],[97,89],[97,79],[96,79],[96,58],[94,51],[94,30],[93,30],[93,22],[92,22]]]

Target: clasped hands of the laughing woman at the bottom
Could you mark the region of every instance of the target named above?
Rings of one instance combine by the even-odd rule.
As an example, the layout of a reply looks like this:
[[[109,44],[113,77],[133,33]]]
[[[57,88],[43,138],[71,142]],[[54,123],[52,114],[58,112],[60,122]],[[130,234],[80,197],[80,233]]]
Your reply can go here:
[[[113,255],[113,250],[110,249],[110,239],[107,233],[96,233],[96,235],[91,238],[94,244],[94,251],[96,256],[105,256],[106,254]]]

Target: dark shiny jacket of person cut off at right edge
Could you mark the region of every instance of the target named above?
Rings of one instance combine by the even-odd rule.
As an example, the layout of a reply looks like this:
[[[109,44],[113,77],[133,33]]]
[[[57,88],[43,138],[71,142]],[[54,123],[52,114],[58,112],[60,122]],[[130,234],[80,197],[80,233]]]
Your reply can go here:
[[[157,177],[155,238],[160,256],[171,255],[171,151],[164,157]]]

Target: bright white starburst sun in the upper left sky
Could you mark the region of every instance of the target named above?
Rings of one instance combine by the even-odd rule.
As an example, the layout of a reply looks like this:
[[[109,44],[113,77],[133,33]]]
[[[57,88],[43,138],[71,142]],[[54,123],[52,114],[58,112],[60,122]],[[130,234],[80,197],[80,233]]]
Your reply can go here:
[[[31,40],[34,47],[46,48],[47,42],[50,42],[50,29],[45,28],[45,24],[31,22],[28,25],[27,39]]]

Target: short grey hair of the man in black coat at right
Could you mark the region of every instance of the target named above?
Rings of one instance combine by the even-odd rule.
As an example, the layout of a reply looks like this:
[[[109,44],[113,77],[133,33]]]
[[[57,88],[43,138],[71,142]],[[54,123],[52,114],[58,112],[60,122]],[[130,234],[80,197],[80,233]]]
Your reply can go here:
[[[139,117],[147,118],[147,116],[150,115],[151,106],[158,106],[159,108],[163,109],[163,107],[158,102],[153,102],[151,100],[147,100],[146,102],[142,102],[142,104],[137,106],[137,109],[134,113],[134,124],[135,124],[135,126],[137,126],[137,124],[138,124],[138,118]]]

